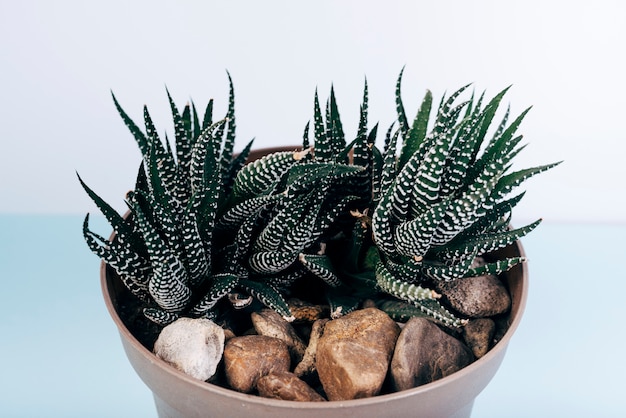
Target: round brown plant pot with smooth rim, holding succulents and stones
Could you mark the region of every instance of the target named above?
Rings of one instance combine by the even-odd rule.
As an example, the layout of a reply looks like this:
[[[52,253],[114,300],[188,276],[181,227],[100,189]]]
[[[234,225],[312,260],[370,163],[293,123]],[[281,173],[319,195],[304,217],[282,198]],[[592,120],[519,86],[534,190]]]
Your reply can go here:
[[[276,150],[253,152],[251,159]],[[293,149],[293,148],[287,148]],[[520,242],[494,254],[524,256]],[[367,399],[335,402],[291,402],[247,395],[193,379],[144,347],[119,315],[120,295],[127,292],[111,268],[102,263],[100,278],[104,300],[118,327],[122,345],[133,368],[154,395],[159,417],[469,417],[474,399],[495,375],[524,310],[528,292],[528,269],[517,265],[503,274],[511,293],[508,330],[482,358],[458,372],[414,389]]]

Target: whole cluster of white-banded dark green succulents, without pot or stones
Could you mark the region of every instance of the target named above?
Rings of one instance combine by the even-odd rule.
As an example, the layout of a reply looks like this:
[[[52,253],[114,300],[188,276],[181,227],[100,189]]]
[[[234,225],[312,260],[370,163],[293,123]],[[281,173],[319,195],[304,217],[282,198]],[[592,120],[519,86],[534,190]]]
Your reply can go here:
[[[122,216],[79,180],[115,231],[89,229],[89,248],[113,267],[150,320],[215,317],[256,299],[285,319],[290,295],[324,297],[333,317],[365,299],[397,318],[429,315],[448,326],[463,320],[430,290],[434,281],[499,274],[523,262],[474,260],[524,236],[540,221],[509,227],[523,196],[510,192],[556,164],[511,172],[523,148],[515,132],[527,111],[509,111],[487,137],[503,90],[458,103],[444,97],[429,130],[432,94],[412,123],[397,81],[397,123],[376,147],[368,130],[365,83],[356,136],[348,142],[334,89],[324,111],[317,92],[302,148],[247,162],[252,141],[233,154],[234,89],[226,116],[213,121],[213,101],[200,120],[195,105],[180,112],[168,92],[175,149],[161,140],[144,107],[145,132],[113,100],[143,161]],[[398,145],[401,148],[398,152]],[[303,290],[304,289],[304,290]]]

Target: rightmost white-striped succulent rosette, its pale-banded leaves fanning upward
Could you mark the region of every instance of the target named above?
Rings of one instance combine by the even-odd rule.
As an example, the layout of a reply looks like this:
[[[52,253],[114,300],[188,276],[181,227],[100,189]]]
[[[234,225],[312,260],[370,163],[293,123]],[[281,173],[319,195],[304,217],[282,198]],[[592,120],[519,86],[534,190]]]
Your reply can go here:
[[[558,163],[511,170],[513,158],[524,148],[516,131],[529,109],[510,123],[507,109],[487,135],[508,88],[483,105],[484,93],[459,103],[468,86],[462,87],[442,99],[428,131],[431,93],[426,93],[409,123],[401,79],[402,73],[396,87],[398,129],[385,143],[381,188],[371,222],[380,257],[375,267],[377,284],[425,314],[460,326],[464,321],[439,303],[429,284],[497,275],[524,262],[515,257],[474,265],[477,256],[513,243],[540,223],[511,229],[511,211],[523,193],[508,196],[524,180]],[[398,137],[403,140],[399,157]],[[401,316],[407,309],[401,311],[396,313]]]

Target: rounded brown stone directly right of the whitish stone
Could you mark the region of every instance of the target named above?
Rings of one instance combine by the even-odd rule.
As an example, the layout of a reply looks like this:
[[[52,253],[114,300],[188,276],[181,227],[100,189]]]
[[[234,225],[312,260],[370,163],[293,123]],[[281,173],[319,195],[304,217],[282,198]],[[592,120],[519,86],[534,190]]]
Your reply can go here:
[[[224,348],[224,372],[229,386],[250,393],[257,381],[272,372],[289,371],[287,344],[265,335],[245,335],[228,340]]]

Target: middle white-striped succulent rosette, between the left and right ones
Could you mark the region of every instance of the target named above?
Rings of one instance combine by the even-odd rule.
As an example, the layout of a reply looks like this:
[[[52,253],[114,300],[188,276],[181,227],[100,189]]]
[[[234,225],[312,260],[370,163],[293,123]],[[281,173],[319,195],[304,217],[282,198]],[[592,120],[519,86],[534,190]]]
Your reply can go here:
[[[375,132],[368,134],[366,125],[367,88],[358,135],[350,144],[334,90],[324,115],[316,93],[314,147],[307,124],[296,164],[284,169],[281,161],[291,154],[272,154],[244,167],[235,179],[234,205],[218,225],[236,235],[226,257],[232,260],[230,271],[241,278],[240,287],[286,319],[292,316],[285,296],[298,282],[322,289],[335,309],[345,303],[345,276],[337,254],[327,249],[351,234],[350,210],[371,204]],[[350,301],[353,309],[358,300]]]

